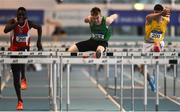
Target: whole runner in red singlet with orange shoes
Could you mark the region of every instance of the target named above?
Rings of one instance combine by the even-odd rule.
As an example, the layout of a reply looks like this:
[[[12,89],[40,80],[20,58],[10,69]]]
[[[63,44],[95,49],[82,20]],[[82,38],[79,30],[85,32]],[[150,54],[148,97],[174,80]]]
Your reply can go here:
[[[35,24],[33,21],[28,20],[26,9],[19,7],[17,10],[16,18],[10,19],[4,28],[4,33],[10,32],[10,51],[25,51],[30,47],[29,30],[34,28],[37,30],[37,48],[42,50],[41,35],[42,28],[40,25]],[[11,56],[12,58],[20,58],[22,56]],[[27,82],[25,76],[25,64],[11,64],[13,73],[13,82],[18,99],[16,106],[17,110],[22,110],[23,100],[21,97],[21,89],[27,89]]]

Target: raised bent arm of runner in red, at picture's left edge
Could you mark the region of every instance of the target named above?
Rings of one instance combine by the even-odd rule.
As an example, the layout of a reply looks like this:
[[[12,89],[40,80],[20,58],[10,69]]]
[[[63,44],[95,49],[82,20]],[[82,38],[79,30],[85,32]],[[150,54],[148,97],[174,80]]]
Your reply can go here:
[[[13,30],[18,25],[18,22],[16,22],[14,19],[11,19],[7,22],[4,28],[4,33],[8,33],[11,30]]]

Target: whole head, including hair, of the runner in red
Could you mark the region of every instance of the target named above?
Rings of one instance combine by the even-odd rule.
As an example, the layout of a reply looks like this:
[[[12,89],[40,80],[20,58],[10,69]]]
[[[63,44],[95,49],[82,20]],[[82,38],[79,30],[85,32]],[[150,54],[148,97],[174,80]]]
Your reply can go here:
[[[27,18],[26,9],[24,7],[19,7],[17,9],[17,20],[20,25],[24,24],[25,19]]]

